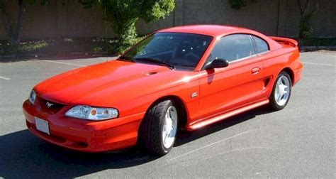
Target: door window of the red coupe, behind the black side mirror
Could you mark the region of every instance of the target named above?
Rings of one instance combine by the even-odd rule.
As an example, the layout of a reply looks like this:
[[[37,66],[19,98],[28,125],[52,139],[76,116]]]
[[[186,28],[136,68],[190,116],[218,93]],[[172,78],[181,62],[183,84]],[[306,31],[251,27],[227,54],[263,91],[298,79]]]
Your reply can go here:
[[[247,58],[254,54],[255,51],[250,35],[234,34],[220,39],[211,52],[211,60],[220,58],[230,62]]]

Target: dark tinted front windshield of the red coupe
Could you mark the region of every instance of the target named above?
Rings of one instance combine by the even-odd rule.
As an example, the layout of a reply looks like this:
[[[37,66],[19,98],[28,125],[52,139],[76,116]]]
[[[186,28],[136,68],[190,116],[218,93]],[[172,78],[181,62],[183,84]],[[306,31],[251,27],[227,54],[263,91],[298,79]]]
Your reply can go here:
[[[135,62],[157,60],[175,68],[194,69],[211,40],[211,36],[192,33],[155,33],[135,45],[123,57]]]

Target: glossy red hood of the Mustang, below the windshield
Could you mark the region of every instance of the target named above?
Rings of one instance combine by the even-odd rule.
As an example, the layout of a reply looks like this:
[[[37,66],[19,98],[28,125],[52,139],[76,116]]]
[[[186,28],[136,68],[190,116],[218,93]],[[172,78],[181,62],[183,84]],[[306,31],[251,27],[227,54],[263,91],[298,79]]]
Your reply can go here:
[[[35,87],[39,97],[60,104],[109,107],[177,85],[191,72],[113,60],[62,73]]]

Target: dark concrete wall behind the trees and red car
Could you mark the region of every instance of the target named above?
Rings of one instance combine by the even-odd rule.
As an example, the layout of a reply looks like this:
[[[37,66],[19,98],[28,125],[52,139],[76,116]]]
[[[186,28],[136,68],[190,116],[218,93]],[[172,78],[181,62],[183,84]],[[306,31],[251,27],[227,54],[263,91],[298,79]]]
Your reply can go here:
[[[261,31],[269,36],[298,36],[299,12],[296,0],[255,0],[240,10],[231,9],[228,0],[176,0],[175,11],[156,23],[137,24],[139,34],[147,34],[160,28],[189,24],[229,24]],[[313,0],[319,10],[313,16],[314,36],[336,37],[336,0]],[[313,6],[312,6],[313,7]],[[17,16],[17,1],[9,3],[9,11]],[[27,6],[22,39],[43,38],[91,38],[115,36],[109,23],[103,21],[104,12],[99,6],[82,9],[77,2],[62,6],[52,1],[48,6]],[[0,39],[7,39],[2,22]]]

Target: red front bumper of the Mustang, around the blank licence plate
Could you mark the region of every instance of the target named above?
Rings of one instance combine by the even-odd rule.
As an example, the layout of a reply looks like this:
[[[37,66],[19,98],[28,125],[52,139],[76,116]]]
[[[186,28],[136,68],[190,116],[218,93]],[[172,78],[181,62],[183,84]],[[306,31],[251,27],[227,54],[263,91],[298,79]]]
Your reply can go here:
[[[56,114],[50,114],[26,100],[23,114],[33,134],[65,148],[102,152],[128,148],[137,143],[138,129],[145,112],[106,121],[86,121],[65,116],[69,108],[63,107]],[[36,129],[34,116],[48,121],[50,135]]]

